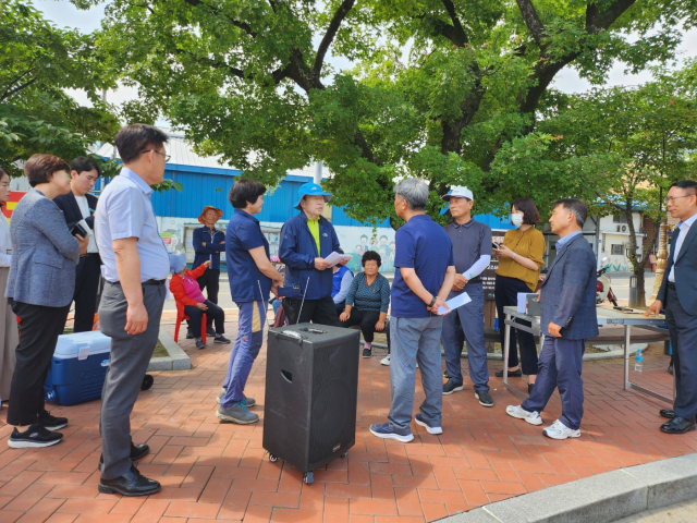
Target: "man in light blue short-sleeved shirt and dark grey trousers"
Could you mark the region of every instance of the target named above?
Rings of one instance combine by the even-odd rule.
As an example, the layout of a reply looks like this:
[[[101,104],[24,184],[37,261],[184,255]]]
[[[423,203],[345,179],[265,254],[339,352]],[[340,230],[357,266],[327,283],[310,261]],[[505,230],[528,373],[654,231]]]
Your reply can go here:
[[[115,138],[121,174],[101,193],[95,238],[106,280],[99,305],[101,331],[111,355],[101,392],[102,463],[99,491],[148,496],[160,484],[143,476],[132,461],[149,452],[131,440],[131,412],[140,391],[160,331],[170,271],[150,202],[150,185],[164,180],[168,136],[150,125],[127,125]]]

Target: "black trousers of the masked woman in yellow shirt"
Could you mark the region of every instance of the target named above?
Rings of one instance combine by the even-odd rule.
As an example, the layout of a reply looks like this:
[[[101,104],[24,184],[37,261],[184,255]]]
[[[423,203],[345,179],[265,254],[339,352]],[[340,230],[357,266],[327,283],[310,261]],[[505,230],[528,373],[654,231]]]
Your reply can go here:
[[[515,307],[518,304],[518,292],[533,292],[523,280],[517,278],[508,278],[505,276],[497,275],[497,281],[494,287],[494,297],[497,301],[497,314],[499,316],[499,332],[501,335],[501,351],[503,351],[503,342],[505,337],[505,314],[503,307]],[[530,326],[529,321],[518,320],[521,325],[526,327]],[[537,375],[537,345],[535,344],[535,337],[529,332],[524,332],[511,328],[511,349],[509,351],[509,367],[516,367],[518,365],[518,351],[517,344],[521,348],[521,366],[523,374],[527,376]]]

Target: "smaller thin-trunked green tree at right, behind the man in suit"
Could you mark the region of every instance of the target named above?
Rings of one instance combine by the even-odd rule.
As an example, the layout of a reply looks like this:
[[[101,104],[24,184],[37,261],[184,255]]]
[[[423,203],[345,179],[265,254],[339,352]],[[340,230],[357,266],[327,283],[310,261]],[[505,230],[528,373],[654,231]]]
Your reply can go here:
[[[638,231],[632,216],[643,212],[653,221],[656,234],[649,245],[656,245],[668,187],[697,177],[697,61],[674,73],[657,69],[655,76],[637,88],[560,96],[540,123],[545,132],[564,135],[550,149],[551,157],[592,159],[599,167],[584,178],[592,181],[595,212],[626,218],[626,257],[638,280],[638,306],[646,305],[648,253],[637,257]]]

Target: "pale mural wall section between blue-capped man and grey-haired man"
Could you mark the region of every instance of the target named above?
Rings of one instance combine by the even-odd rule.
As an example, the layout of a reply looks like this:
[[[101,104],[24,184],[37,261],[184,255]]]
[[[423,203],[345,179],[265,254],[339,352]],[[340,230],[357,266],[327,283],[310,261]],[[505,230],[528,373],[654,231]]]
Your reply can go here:
[[[344,253],[353,256],[347,267],[354,272],[363,270],[360,259],[366,251],[380,255],[380,272],[394,272],[394,230],[371,227],[335,227],[339,243]]]

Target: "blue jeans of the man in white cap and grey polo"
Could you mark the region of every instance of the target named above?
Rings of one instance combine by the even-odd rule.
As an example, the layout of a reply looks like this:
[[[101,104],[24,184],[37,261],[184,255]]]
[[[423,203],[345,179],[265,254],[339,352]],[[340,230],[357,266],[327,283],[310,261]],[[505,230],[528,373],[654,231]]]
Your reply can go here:
[[[443,318],[443,349],[448,376],[456,384],[462,384],[462,366],[460,356],[462,345],[467,340],[467,361],[469,362],[469,379],[475,390],[489,390],[489,369],[487,368],[487,346],[484,342],[484,285],[467,283],[463,289],[472,302],[456,308]],[[451,292],[448,300],[460,294]]]

